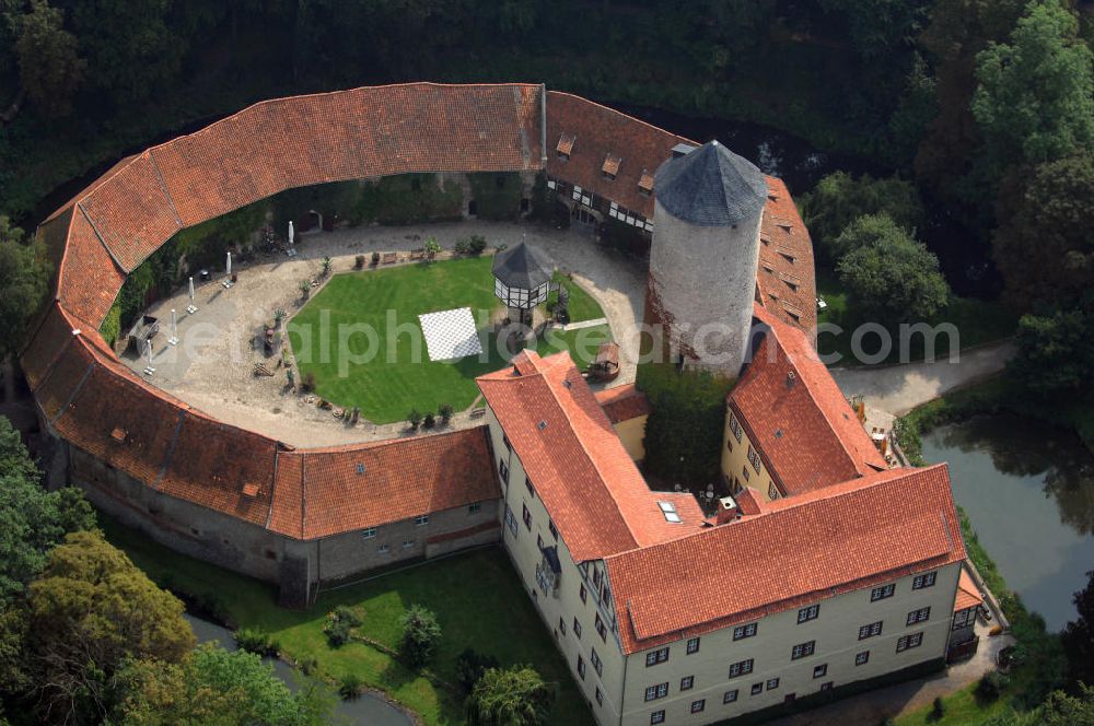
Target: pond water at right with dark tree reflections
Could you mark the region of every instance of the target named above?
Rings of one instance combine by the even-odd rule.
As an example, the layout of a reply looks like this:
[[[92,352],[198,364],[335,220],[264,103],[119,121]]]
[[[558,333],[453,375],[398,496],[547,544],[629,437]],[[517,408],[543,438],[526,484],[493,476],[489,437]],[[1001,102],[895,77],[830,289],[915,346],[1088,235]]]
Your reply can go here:
[[[1008,586],[1049,630],[1073,620],[1094,569],[1094,455],[1072,432],[1016,415],[976,417],[923,436],[948,461],[954,497]]]

